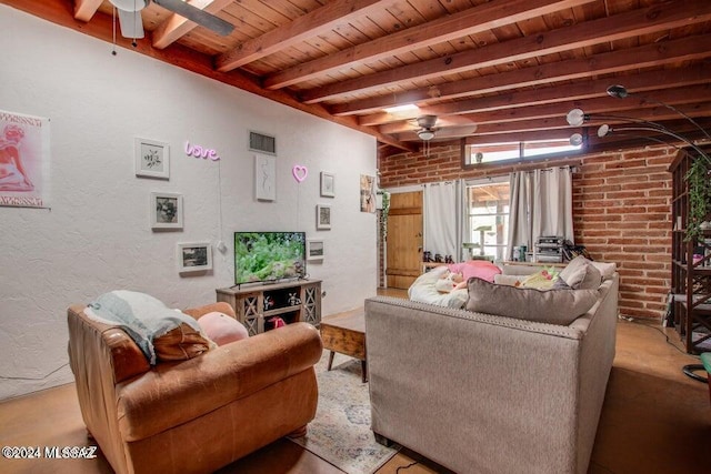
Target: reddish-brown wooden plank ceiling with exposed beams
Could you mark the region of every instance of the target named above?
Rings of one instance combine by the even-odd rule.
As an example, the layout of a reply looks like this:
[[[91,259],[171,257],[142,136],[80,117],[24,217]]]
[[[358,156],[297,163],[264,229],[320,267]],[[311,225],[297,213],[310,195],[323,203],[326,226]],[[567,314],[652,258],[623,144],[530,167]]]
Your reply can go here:
[[[102,0],[0,0],[113,41]],[[689,137],[711,124],[709,0],[192,0],[234,26],[228,36],[156,3],[146,38],[120,47],[377,137],[381,155],[418,150],[418,118],[433,144],[584,134],[591,149],[623,115]],[[120,51],[120,50],[119,50]],[[120,53],[120,52],[119,52]],[[610,97],[623,84],[627,99]],[[677,111],[663,107],[672,105]],[[417,105],[402,112],[395,105]],[[570,127],[573,108],[593,114]]]

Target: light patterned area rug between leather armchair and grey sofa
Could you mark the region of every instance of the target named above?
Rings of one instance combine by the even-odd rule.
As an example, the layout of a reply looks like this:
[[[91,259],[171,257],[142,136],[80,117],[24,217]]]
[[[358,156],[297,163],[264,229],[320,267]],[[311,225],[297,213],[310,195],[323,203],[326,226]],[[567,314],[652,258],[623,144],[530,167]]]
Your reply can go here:
[[[316,366],[316,418],[306,436],[291,441],[349,474],[373,473],[398,450],[378,444],[370,430],[370,397],[360,361],[336,354],[329,372],[328,360],[329,351],[323,351]]]

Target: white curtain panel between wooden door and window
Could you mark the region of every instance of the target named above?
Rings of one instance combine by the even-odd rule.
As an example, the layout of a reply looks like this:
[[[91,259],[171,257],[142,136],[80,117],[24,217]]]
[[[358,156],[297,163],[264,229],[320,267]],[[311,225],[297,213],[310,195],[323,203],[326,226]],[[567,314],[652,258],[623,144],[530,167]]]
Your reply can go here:
[[[424,250],[461,258],[462,183],[460,181],[424,184]]]

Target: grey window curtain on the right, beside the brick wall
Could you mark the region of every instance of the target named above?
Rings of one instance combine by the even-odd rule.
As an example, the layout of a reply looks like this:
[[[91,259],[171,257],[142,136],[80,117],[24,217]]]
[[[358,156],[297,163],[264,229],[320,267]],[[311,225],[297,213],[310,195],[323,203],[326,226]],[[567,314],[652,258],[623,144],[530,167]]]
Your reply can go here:
[[[511,173],[509,259],[513,249],[533,250],[541,235],[573,241],[572,170],[570,167]]]

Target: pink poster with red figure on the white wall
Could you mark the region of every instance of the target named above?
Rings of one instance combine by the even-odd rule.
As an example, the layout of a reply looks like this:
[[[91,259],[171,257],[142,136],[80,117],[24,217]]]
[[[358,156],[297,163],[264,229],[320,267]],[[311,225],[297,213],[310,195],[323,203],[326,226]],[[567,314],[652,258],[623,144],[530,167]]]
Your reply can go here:
[[[49,119],[0,110],[0,205],[49,208]]]

